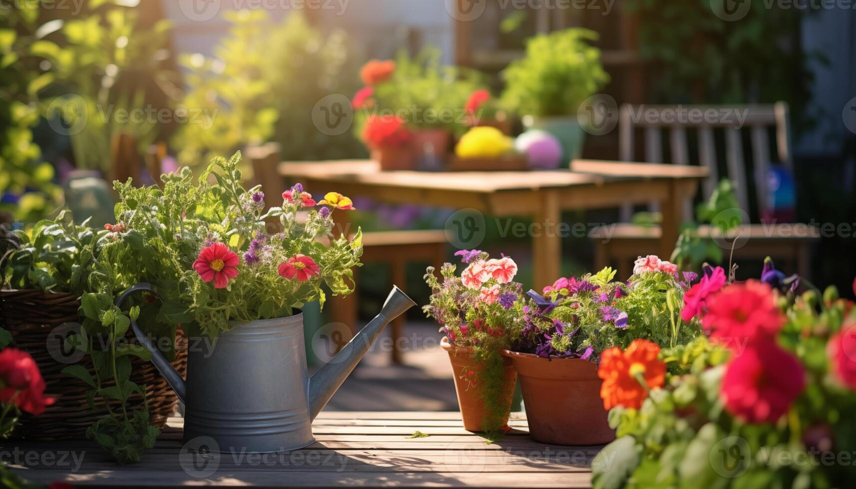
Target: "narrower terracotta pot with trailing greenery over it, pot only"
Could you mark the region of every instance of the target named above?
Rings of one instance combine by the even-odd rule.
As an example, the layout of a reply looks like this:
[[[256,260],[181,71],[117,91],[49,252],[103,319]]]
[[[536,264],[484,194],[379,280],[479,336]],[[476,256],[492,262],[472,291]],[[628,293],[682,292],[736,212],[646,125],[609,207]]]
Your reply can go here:
[[[461,379],[462,372],[479,370],[479,364],[473,360],[472,350],[463,349],[449,344],[447,338],[440,343],[449,353],[449,361],[452,362],[453,378],[455,379],[455,392],[458,395],[458,406],[461,408],[461,419],[464,421],[464,429],[471,432],[484,431],[484,399],[482,399],[479,385],[470,386],[468,379]],[[507,360],[507,359],[503,359]],[[508,424],[508,414],[511,412],[511,401],[514,398],[514,384],[517,382],[517,373],[511,366],[511,361],[506,361],[505,382],[502,385],[502,397],[496,403],[502,403],[505,408],[502,425]]]

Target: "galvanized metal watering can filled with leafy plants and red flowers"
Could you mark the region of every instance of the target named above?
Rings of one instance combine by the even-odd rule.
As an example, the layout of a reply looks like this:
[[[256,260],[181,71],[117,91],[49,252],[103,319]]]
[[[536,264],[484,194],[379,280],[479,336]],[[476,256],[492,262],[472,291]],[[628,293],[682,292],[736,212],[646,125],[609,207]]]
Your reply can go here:
[[[117,222],[83,252],[95,257],[80,298],[84,329],[107,331],[107,344],[134,331],[142,346],[111,349],[106,361],[117,366],[125,355],[150,357],[185,403],[187,439],[212,438],[215,451],[294,450],[312,443],[311,420],[359,361],[360,346],[367,349],[412,301],[395,289],[393,307],[360,332],[360,343],[346,347],[344,361],[330,362],[310,383],[300,307],[323,305],[322,285],[333,295],[353,292],[361,233],[349,241],[330,231],[333,213],[354,206],[336,193],[316,201],[297,184],[282,192],[282,206],[265,210],[262,189],[241,186],[240,163],[240,152],[215,158],[198,181],[183,168],[162,176],[163,190],[116,182]],[[179,324],[193,338],[187,381],[147,334]],[[75,341],[84,349],[86,336]],[[98,388],[98,379],[76,373]],[[123,401],[131,390],[120,382],[117,391],[98,388],[98,394]],[[98,444],[134,462],[146,448],[134,445],[146,425],[106,419],[91,430]]]

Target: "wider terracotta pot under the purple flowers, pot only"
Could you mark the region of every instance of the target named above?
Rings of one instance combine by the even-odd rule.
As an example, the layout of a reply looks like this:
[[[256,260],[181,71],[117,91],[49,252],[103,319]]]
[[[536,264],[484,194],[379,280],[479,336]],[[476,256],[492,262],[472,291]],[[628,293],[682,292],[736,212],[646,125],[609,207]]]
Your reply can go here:
[[[542,443],[608,444],[615,431],[600,398],[597,366],[505,350],[520,376],[529,434]]]

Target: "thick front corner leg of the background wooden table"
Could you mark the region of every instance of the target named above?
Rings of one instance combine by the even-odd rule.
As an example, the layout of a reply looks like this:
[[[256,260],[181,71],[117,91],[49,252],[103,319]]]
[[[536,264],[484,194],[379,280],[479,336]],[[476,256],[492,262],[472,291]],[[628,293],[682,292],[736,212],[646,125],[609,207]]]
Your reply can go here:
[[[557,230],[561,220],[559,195],[542,192],[532,228],[532,289],[541,290],[562,274],[562,238]]]

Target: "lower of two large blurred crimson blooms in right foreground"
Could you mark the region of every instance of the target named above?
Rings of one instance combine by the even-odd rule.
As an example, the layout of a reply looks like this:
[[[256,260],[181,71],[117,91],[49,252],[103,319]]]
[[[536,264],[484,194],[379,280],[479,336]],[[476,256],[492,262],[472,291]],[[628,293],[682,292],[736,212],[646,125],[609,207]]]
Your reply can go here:
[[[805,370],[771,338],[750,343],[725,366],[721,395],[729,413],[748,423],[776,422],[805,389]]]

